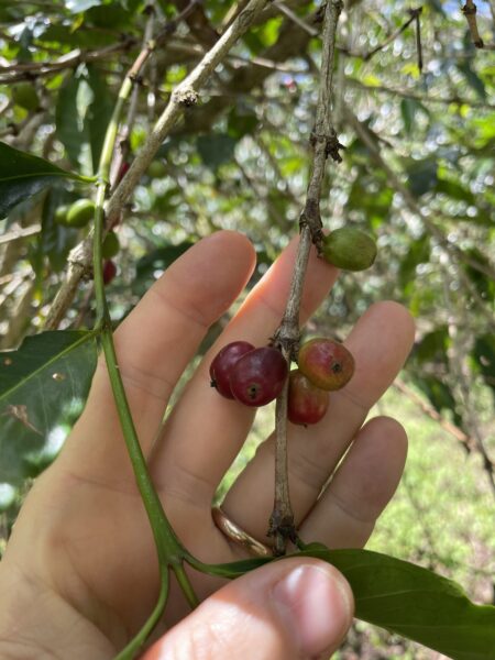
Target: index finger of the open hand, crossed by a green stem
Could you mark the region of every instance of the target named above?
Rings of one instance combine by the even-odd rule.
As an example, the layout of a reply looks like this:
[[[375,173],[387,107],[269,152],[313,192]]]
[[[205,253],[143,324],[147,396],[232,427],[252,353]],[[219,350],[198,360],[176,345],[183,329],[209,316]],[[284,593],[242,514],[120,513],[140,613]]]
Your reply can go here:
[[[184,369],[209,326],[243,289],[254,263],[248,239],[232,231],[217,232],[178,258],[117,330],[120,372],[145,454]],[[102,359],[63,455],[74,471],[91,479],[131,476]]]

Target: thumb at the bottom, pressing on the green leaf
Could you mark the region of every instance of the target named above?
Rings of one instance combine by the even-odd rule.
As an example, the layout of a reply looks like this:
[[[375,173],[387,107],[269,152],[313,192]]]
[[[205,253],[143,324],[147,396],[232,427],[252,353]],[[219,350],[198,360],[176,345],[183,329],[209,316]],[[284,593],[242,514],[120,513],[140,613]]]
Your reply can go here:
[[[328,563],[285,559],[223,586],[172,628],[143,660],[300,660],[337,650],[353,597]]]

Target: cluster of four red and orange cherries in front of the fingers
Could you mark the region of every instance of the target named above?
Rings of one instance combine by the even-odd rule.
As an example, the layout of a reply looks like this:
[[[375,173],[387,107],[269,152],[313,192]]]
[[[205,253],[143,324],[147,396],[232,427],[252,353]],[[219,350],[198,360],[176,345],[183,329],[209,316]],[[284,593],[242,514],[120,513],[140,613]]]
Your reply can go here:
[[[328,393],[351,380],[354,359],[343,344],[317,338],[300,346],[297,362],[298,369],[288,373],[277,349],[233,341],[210,365],[211,386],[226,398],[258,407],[275,399],[288,377],[288,419],[304,426],[317,424],[327,413]]]

